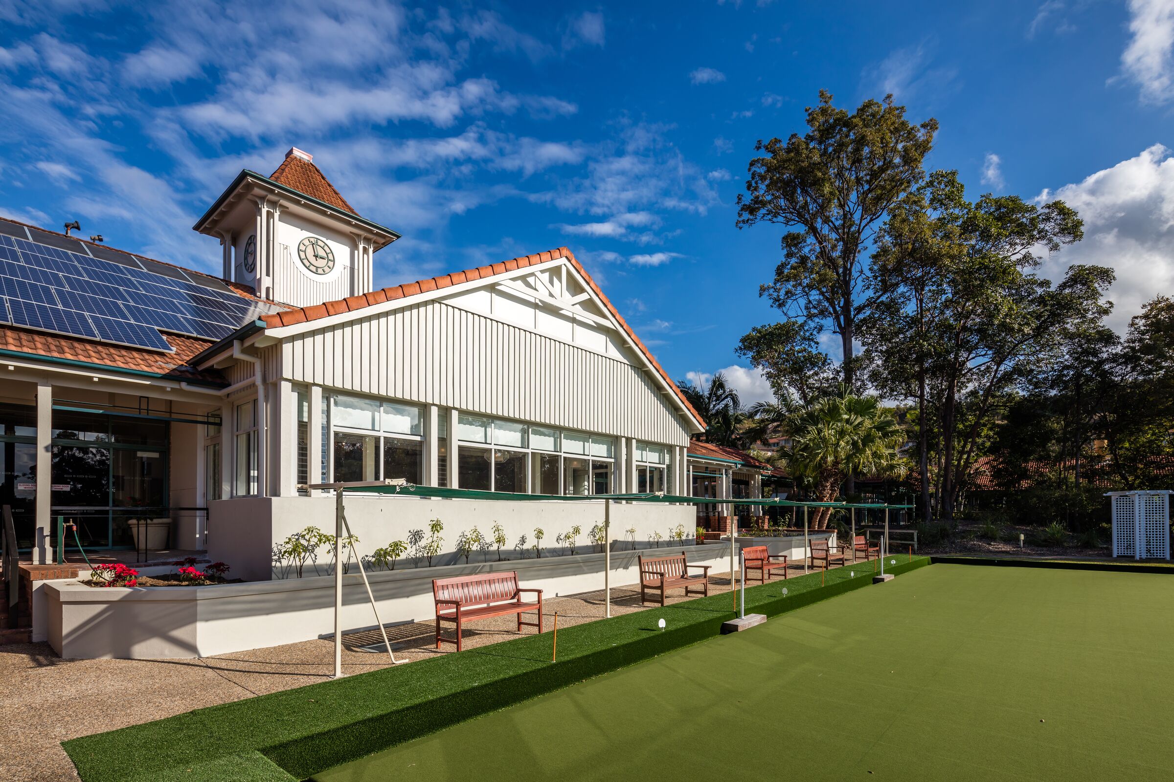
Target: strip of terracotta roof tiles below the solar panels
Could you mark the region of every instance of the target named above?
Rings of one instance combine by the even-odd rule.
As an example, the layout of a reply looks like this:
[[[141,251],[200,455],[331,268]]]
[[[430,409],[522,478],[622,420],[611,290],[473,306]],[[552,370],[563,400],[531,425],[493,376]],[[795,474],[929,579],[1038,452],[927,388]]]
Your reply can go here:
[[[163,339],[175,348],[174,353],[143,351],[74,336],[42,334],[13,326],[0,326],[0,349],[85,361],[104,367],[136,369],[173,380],[204,380],[227,385],[224,376],[218,372],[201,372],[188,366],[188,361],[194,355],[212,345],[210,340],[176,334],[163,334]]]

